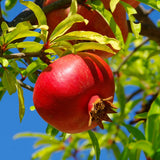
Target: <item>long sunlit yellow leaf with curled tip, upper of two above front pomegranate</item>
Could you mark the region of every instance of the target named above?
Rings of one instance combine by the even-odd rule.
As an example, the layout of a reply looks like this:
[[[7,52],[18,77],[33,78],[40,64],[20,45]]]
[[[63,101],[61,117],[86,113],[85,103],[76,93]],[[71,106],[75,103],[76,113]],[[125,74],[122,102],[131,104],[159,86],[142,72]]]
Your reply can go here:
[[[55,42],[66,41],[66,40],[89,40],[96,41],[100,44],[110,44],[114,49],[120,50],[120,43],[118,40],[114,38],[109,38],[107,36],[103,36],[99,33],[92,31],[73,31],[67,33],[60,38],[57,38]]]

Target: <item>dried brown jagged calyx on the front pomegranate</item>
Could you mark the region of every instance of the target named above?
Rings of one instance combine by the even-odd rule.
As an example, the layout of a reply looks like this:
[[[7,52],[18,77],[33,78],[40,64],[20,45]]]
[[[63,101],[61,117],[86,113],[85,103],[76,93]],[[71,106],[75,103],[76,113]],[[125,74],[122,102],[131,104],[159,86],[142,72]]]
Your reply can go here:
[[[114,109],[117,107],[110,101],[113,97],[108,97],[105,99],[98,98],[94,103],[90,111],[90,119],[88,125],[90,126],[93,121],[95,121],[101,129],[104,129],[102,120],[112,122],[112,120],[107,115],[108,113],[116,113]]]

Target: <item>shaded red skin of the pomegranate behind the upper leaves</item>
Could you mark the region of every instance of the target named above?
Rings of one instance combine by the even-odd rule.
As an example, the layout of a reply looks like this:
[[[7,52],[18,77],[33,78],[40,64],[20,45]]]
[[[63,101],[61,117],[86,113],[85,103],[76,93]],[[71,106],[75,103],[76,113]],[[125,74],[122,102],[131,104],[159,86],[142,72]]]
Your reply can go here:
[[[50,3],[55,1],[56,0],[48,0],[44,3],[44,6],[49,5]],[[105,8],[109,9],[109,1],[102,0],[102,2],[104,3]],[[69,11],[70,8],[59,9],[59,10],[54,10],[47,14],[49,34],[52,33],[52,31],[58,25],[58,23],[60,23],[63,19],[65,19],[68,16]],[[89,10],[85,6],[78,5],[77,13],[82,15],[85,19],[88,19],[89,23],[87,25],[85,25],[84,23],[76,23],[72,26],[72,28],[69,31],[75,31],[75,30],[94,31],[102,35],[115,38],[114,33],[112,32],[110,26],[96,11]],[[128,25],[126,20],[126,12],[121,4],[117,4],[117,7],[113,12],[113,17],[122,31],[124,41],[126,41],[128,37]],[[113,54],[101,51],[97,51],[96,53],[102,58],[108,58],[113,56]]]

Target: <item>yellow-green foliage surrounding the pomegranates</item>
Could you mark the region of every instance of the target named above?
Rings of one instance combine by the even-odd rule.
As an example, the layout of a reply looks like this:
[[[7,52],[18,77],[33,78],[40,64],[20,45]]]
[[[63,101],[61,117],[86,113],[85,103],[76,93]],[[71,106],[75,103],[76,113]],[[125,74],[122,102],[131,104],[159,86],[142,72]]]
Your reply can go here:
[[[138,1],[160,11],[158,0]],[[87,159],[95,157],[99,160],[102,149],[112,150],[115,158],[121,160],[138,160],[141,152],[148,159],[160,159],[160,47],[157,42],[139,35],[141,24],[134,23],[133,16],[136,10],[121,2],[134,33],[129,34],[124,44],[119,26],[114,21],[110,23],[113,19],[112,12],[105,10],[99,0],[88,1],[88,4],[111,26],[116,39],[91,31],[67,32],[75,23],[88,23],[77,14],[75,0],[72,1],[69,16],[59,23],[49,37],[42,9],[31,1],[20,2],[34,12],[38,24],[32,25],[29,21],[24,21],[15,27],[9,27],[6,22],[2,22],[0,36],[0,100],[5,92],[10,95],[18,93],[20,121],[25,113],[22,87],[33,90],[24,82],[35,83],[48,60],[54,61],[65,54],[76,54],[84,50],[97,49],[116,54],[113,49],[121,49],[118,54],[106,59],[113,69],[116,84],[114,104],[119,108],[116,114],[110,115],[113,122],[104,123],[104,130],[97,127],[93,131],[73,135],[61,133],[50,125],[46,134],[26,132],[15,135],[14,138],[38,138],[34,146],[40,149],[32,155],[32,159],[48,160],[57,151],[63,152],[64,160],[69,157],[76,159],[78,155],[86,156],[83,153],[88,151]],[[6,0],[6,10],[12,9],[16,3],[17,0]],[[115,6],[112,7],[113,11]],[[72,45],[70,41],[73,40],[80,43]],[[131,86],[137,90],[128,95],[127,88]],[[135,114],[137,107],[141,108],[139,114]],[[33,106],[31,108],[34,110]],[[131,117],[133,114],[134,118]]]

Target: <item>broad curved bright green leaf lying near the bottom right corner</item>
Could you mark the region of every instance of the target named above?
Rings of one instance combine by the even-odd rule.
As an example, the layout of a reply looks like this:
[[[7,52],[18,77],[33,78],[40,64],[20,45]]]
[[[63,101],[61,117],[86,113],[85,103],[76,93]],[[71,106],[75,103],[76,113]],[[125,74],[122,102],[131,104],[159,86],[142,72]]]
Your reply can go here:
[[[130,150],[139,149],[141,151],[144,151],[149,157],[152,157],[154,155],[152,143],[146,140],[139,140],[135,143],[130,143],[128,147]]]

